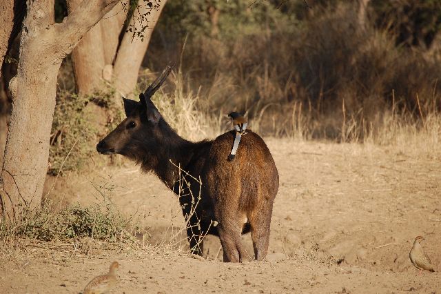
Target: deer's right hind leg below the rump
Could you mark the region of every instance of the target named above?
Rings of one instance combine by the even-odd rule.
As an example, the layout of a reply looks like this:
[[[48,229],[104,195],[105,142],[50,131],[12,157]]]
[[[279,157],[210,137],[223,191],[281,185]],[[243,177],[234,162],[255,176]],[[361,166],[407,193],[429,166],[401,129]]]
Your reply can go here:
[[[261,261],[267,256],[272,210],[272,201],[265,202],[249,215],[254,258],[257,261]]]

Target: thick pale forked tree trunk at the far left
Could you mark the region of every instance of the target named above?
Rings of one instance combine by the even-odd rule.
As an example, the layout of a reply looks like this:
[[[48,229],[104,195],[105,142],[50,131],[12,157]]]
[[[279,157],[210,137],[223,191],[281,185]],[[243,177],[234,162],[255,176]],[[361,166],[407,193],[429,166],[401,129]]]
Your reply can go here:
[[[8,219],[19,220],[24,208],[41,204],[61,61],[118,1],[83,1],[63,23],[54,23],[54,0],[28,0],[1,170],[1,207]]]

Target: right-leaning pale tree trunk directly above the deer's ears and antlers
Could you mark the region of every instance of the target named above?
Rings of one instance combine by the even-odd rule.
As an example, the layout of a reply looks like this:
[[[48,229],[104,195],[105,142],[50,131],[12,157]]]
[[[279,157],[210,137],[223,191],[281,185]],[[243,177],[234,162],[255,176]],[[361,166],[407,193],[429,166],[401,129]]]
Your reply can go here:
[[[113,70],[116,104],[121,104],[121,95],[130,95],[136,87],[139,67],[152,37],[154,26],[167,1],[157,2],[158,4],[154,4],[153,8],[148,7],[146,2],[139,4],[130,19],[132,32],[125,32],[121,41]],[[143,29],[146,26],[147,28]],[[135,32],[141,32],[140,35],[143,35],[143,37],[134,35]]]

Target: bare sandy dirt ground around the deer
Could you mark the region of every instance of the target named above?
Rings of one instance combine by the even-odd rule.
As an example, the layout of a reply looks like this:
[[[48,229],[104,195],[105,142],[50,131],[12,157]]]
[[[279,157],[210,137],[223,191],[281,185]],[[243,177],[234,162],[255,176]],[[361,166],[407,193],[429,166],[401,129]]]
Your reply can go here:
[[[79,293],[114,260],[112,293],[441,293],[441,147],[266,141],[280,174],[267,261],[224,264],[216,237],[206,238],[206,260],[175,250],[178,200],[125,163],[63,177],[52,194],[90,204],[102,199],[92,184],[107,189],[117,208],[143,219],[143,246],[85,255],[69,242],[31,242],[1,253],[0,293]],[[437,272],[412,266],[417,235]]]

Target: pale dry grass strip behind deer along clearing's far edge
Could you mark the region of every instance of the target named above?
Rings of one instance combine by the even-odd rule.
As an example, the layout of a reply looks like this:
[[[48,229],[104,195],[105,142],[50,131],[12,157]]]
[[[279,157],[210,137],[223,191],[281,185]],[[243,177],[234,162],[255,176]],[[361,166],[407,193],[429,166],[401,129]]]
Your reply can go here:
[[[174,91],[158,93],[154,102],[181,136],[192,140],[204,139],[232,128],[225,117],[227,110],[220,108],[210,112],[209,104],[200,97],[199,92],[194,95],[189,78],[185,81],[181,69],[174,72],[172,82]],[[212,95],[216,95],[213,89]],[[327,134],[337,132],[339,135],[334,140],[339,142],[415,146],[424,150],[437,148],[441,136],[441,117],[436,88],[432,89],[431,98],[421,99],[417,95],[416,108],[413,110],[396,102],[395,91],[392,95],[391,108],[378,109],[369,119],[365,117],[365,108],[355,111],[352,102],[345,99],[342,99],[340,109],[335,113],[319,118],[314,115],[311,104],[305,106],[299,100],[284,107],[268,103],[256,108],[258,112],[253,114],[250,110],[245,115],[249,118],[249,128],[271,137],[305,141],[327,138]],[[322,135],[320,132],[323,132]]]

